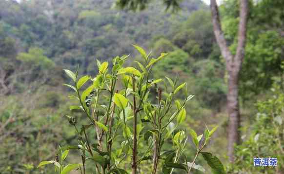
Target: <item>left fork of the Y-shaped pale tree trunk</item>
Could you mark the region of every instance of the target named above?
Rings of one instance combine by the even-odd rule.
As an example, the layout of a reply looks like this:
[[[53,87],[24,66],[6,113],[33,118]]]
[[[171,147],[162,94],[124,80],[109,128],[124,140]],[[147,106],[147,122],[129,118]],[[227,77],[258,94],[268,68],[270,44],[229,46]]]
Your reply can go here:
[[[210,0],[210,9],[211,9],[211,15],[212,15],[214,35],[220,47],[221,54],[223,58],[225,58],[227,66],[228,66],[233,56],[229,50],[229,47],[227,46],[223,31],[221,28],[219,10],[218,10],[216,0]]]

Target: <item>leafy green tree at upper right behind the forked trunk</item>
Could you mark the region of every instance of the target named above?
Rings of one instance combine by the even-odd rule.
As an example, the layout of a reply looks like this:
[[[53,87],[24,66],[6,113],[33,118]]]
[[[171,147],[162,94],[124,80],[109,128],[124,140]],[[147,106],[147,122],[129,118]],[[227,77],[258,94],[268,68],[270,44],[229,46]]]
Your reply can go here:
[[[234,36],[237,33],[238,6],[237,0],[228,0],[221,8],[224,34],[233,43],[230,48],[233,52],[237,47]],[[240,74],[240,94],[245,100],[269,89],[272,78],[282,74],[284,22],[280,18],[283,17],[283,6],[281,0],[261,0],[251,8],[244,71]]]

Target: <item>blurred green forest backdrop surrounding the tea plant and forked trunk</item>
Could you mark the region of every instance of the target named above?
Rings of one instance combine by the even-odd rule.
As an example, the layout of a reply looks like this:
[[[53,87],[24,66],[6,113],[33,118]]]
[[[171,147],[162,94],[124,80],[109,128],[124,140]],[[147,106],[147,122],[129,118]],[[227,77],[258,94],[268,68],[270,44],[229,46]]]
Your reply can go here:
[[[215,39],[210,7],[202,0],[183,0],[176,10],[162,0],[152,0],[143,9],[130,10],[121,8],[122,2],[0,0],[0,173],[54,174],[53,166],[37,166],[41,161],[54,160],[61,146],[78,143],[66,116],[75,117],[80,125],[88,124],[83,113],[69,109],[76,102],[72,90],[62,85],[72,82],[63,69],[78,69],[80,76],[96,77],[101,69],[97,60],[108,62],[111,69],[113,59],[123,55],[130,55],[125,60],[127,66],[138,69],[140,65],[136,66],[134,60],[143,58],[131,46],[135,44],[151,51],[155,58],[167,53],[153,67],[150,78],[177,78],[179,84],[186,82],[188,94],[195,95],[184,110],[186,121],[181,123],[181,130],[192,128],[201,135],[204,127],[219,126],[205,149],[218,156],[226,173],[282,174],[284,1],[248,0],[239,77],[241,140],[234,146],[234,164],[227,155],[229,73]],[[224,0],[219,12],[223,36],[235,55],[239,0]],[[176,97],[184,98],[183,94]],[[88,132],[96,134],[95,130]],[[164,144],[170,147],[172,142]],[[184,155],[190,161],[195,155],[193,144],[188,138]],[[277,157],[278,166],[254,167],[254,157]],[[80,158],[70,151],[66,161],[80,163]],[[121,165],[130,163],[129,157]],[[145,160],[139,167],[141,173],[151,173],[151,163]],[[196,164],[210,173],[201,157]],[[90,166],[86,167],[87,174],[94,173]]]

